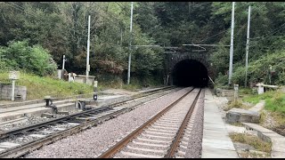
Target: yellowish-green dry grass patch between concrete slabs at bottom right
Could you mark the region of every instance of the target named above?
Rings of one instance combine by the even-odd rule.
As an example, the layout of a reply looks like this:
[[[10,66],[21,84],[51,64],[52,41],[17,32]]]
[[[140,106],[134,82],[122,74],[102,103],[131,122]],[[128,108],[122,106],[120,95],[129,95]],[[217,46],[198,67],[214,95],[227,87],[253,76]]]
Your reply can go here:
[[[230,137],[234,142],[240,142],[244,144],[248,144],[259,151],[263,151],[266,153],[271,152],[272,143],[266,142],[264,140],[259,139],[258,137],[250,134],[243,133],[230,133]]]

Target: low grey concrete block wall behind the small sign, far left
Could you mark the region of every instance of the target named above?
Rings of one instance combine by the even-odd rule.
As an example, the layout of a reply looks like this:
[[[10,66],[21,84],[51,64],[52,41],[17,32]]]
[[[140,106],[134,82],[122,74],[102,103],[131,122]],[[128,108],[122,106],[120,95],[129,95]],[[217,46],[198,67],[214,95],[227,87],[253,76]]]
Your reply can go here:
[[[17,99],[17,95],[20,95],[20,99]],[[15,86],[15,100],[26,100],[27,87],[26,86]],[[12,85],[0,84],[0,99],[12,100]]]

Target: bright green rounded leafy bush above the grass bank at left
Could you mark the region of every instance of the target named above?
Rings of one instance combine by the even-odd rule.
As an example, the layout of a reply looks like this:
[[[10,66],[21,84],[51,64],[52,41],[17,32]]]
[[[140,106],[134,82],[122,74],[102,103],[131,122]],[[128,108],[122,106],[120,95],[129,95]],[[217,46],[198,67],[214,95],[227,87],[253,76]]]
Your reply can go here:
[[[25,70],[38,76],[51,75],[56,71],[56,64],[47,50],[40,45],[28,46],[28,41],[8,43],[0,48],[1,70]]]

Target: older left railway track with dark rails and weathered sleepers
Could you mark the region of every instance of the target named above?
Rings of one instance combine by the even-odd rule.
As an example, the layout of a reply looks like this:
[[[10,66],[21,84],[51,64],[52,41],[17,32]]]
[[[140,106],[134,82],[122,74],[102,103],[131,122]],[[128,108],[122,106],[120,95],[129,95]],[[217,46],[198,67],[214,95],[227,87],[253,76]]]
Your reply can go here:
[[[102,124],[103,121],[124,114],[142,104],[159,99],[167,93],[175,92],[177,90],[179,89],[167,87],[162,90],[135,96],[135,98],[131,100],[113,103],[110,106],[94,108],[81,113],[56,118],[44,123],[22,127],[9,132],[2,132],[0,134],[0,145],[10,145],[10,148],[1,148],[0,157],[19,157],[26,155],[53,141],[61,140],[69,135],[96,126],[97,124]]]

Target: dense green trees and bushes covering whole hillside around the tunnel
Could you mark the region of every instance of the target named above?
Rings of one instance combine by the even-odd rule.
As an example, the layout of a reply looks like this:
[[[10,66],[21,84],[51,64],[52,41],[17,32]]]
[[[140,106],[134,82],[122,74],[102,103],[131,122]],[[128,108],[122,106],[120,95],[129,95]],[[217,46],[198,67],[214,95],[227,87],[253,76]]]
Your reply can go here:
[[[232,82],[241,85],[245,79],[249,5],[252,15],[248,84],[256,83],[258,78],[263,78],[267,84],[284,84],[285,4],[281,2],[236,3]],[[14,60],[24,60],[17,63],[28,72],[43,76],[53,70],[53,67],[32,67],[44,65],[43,61],[28,64],[25,61],[28,54],[29,57],[44,58],[45,49],[58,68],[61,68],[65,54],[68,72],[84,74],[90,15],[90,75],[112,74],[124,79],[126,84],[128,53],[132,52],[132,77],[143,79],[159,75],[162,84],[163,76],[167,74],[164,73],[163,50],[159,47],[132,47],[129,50],[130,8],[130,2],[1,2],[0,45],[8,47],[2,50],[8,50],[12,47],[9,42],[27,39],[31,48],[24,51],[20,46],[14,46],[20,51],[15,50],[16,54],[10,55]],[[134,2],[132,45],[230,44],[231,13],[232,2]],[[228,47],[206,48],[217,77],[213,79],[216,84],[227,84]],[[17,67],[12,59],[11,65],[7,64],[7,58],[1,55],[3,53],[0,54],[1,69]],[[269,65],[274,71],[270,74]],[[272,76],[271,83],[269,75]],[[131,79],[132,83],[135,82]]]

